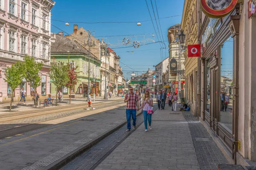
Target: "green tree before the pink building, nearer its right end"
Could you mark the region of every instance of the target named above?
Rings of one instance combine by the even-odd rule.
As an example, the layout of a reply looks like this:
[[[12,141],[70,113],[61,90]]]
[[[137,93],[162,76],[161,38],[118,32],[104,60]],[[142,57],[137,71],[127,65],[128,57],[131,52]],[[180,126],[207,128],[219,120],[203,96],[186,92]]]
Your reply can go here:
[[[36,88],[41,85],[41,77],[39,77],[38,72],[42,69],[44,64],[43,62],[36,62],[33,57],[26,55],[22,65],[22,69],[24,70],[24,78],[36,93]]]

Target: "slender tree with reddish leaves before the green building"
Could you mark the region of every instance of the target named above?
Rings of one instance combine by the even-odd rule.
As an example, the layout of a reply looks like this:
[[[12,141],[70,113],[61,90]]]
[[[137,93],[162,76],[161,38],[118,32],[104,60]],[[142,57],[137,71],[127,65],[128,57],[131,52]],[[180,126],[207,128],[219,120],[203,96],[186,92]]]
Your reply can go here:
[[[77,72],[76,72],[77,66],[74,66],[74,62],[71,62],[71,63],[68,62],[67,65],[69,65],[69,70],[67,74],[69,80],[66,84],[66,87],[70,89],[70,102],[71,102],[71,88],[73,88],[77,84]]]

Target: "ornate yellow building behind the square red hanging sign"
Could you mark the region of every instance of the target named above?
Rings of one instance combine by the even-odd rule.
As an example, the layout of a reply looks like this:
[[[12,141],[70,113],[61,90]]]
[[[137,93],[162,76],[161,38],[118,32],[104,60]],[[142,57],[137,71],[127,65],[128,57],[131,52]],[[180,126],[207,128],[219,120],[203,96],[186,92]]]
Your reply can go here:
[[[181,28],[186,34],[185,46],[198,44],[198,0],[185,0]],[[191,112],[198,116],[200,113],[200,90],[198,89],[198,58],[188,57],[187,48],[185,57],[185,101],[190,105]]]

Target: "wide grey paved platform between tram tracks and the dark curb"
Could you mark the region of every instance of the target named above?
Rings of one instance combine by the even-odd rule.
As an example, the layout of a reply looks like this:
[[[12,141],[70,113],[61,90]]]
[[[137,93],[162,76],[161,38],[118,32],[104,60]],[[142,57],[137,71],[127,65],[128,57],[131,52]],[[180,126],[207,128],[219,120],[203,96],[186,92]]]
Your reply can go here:
[[[125,103],[65,117],[69,118],[67,122],[0,140],[0,169],[57,169],[125,125]]]

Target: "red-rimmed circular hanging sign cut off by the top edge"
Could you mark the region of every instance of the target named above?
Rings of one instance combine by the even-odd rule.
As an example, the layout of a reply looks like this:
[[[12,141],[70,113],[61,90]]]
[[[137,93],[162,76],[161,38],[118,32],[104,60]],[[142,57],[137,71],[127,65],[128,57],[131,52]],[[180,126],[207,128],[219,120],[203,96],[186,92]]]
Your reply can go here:
[[[235,8],[238,0],[200,0],[204,14],[211,18],[222,18]]]

